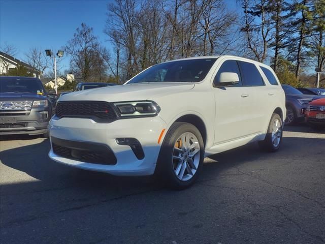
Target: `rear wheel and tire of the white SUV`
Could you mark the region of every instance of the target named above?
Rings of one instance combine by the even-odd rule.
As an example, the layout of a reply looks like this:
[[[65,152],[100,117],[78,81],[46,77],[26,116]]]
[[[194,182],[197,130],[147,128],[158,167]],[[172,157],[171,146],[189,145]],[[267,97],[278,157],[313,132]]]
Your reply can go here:
[[[273,113],[265,139],[258,142],[259,147],[265,151],[277,151],[282,142],[282,134],[282,119],[279,114]]]

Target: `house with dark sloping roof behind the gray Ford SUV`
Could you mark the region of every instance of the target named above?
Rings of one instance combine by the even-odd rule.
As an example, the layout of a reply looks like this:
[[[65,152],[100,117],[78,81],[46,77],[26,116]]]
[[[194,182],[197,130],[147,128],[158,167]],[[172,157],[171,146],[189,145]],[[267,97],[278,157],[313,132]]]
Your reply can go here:
[[[18,65],[25,67],[34,77],[40,78],[40,71],[22,62],[21,60],[0,51],[0,74],[7,74],[11,69],[15,69]]]

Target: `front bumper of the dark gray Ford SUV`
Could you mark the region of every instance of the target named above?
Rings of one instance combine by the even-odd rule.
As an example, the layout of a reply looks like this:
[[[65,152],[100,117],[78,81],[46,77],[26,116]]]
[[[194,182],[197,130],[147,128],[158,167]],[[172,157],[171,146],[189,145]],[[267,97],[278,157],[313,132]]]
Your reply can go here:
[[[26,112],[1,112],[0,135],[40,135],[46,133],[51,114],[44,108]]]

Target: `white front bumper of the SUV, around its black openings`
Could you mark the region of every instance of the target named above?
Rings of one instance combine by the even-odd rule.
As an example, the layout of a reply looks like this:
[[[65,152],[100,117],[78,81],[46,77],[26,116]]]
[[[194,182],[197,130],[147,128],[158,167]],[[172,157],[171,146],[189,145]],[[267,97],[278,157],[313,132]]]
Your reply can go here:
[[[50,121],[51,150],[49,157],[59,163],[73,167],[101,171],[113,175],[151,175],[154,173],[160,144],[158,138],[167,125],[159,116],[147,118],[119,119],[112,123],[96,123],[88,118],[63,117]],[[85,160],[62,157],[53,151],[52,137],[67,141],[107,145],[112,150],[114,165],[89,163]],[[128,145],[120,145],[116,138],[135,138],[143,149],[144,158],[138,159]]]

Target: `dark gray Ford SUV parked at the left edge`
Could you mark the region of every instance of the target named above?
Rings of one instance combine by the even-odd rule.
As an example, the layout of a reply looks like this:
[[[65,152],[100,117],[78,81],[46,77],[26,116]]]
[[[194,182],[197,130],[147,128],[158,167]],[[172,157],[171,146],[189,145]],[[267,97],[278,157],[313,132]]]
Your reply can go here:
[[[48,136],[52,108],[38,78],[0,77],[0,135]]]

